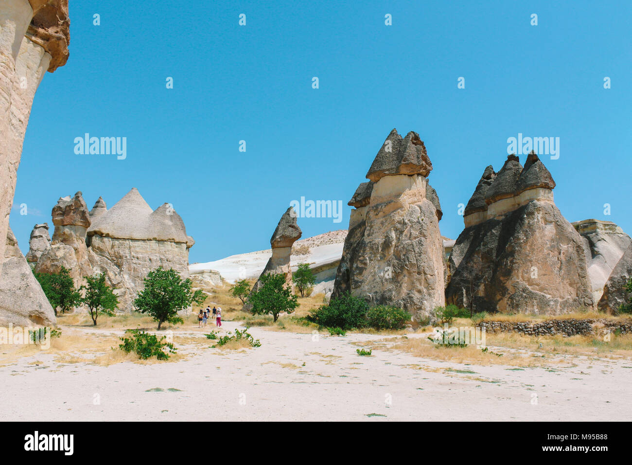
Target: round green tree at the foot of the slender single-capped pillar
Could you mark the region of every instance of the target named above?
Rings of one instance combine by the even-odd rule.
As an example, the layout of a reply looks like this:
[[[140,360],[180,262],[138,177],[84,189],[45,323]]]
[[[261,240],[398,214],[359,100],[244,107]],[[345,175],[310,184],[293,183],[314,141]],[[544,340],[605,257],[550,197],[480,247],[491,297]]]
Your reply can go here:
[[[281,312],[293,313],[296,310],[298,297],[292,294],[290,287],[285,287],[284,275],[267,273],[260,279],[262,286],[248,299],[253,314],[271,314],[277,321]]]

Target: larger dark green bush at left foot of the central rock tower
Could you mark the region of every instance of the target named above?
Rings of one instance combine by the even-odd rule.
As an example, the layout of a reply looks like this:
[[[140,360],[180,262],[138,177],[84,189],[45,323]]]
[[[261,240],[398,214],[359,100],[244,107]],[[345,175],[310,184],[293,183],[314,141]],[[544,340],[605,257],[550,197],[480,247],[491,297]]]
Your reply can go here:
[[[351,330],[367,325],[367,312],[367,302],[347,293],[331,299],[329,305],[320,306],[307,319],[325,328]]]

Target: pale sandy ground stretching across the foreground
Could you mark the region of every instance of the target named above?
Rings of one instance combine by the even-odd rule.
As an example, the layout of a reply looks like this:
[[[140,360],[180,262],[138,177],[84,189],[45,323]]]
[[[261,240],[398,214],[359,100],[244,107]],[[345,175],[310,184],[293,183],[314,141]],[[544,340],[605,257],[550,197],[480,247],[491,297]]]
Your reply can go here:
[[[222,329],[236,326],[227,321]],[[174,343],[202,332],[174,332]],[[42,350],[0,367],[0,421],[617,421],[632,411],[632,362],[623,359],[566,356],[555,368],[516,369],[399,350],[356,354],[380,335],[250,332],[262,347],[196,345],[177,363],[60,364]]]

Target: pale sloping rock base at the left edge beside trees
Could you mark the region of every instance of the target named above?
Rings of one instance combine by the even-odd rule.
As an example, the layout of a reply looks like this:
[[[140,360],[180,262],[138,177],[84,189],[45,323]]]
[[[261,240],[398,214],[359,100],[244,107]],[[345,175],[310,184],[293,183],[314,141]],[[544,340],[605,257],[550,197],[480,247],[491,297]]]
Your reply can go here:
[[[11,231],[0,273],[0,326],[55,326],[54,310],[33,276]]]

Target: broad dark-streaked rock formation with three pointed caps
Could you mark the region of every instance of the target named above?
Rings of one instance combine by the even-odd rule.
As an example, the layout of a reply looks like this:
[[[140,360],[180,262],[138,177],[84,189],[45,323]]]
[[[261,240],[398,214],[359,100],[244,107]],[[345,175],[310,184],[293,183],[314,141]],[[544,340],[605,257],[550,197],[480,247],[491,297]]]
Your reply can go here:
[[[583,239],[553,202],[535,153],[487,166],[450,256],[446,302],[474,311],[559,314],[593,307]],[[483,203],[484,202],[484,203]]]

